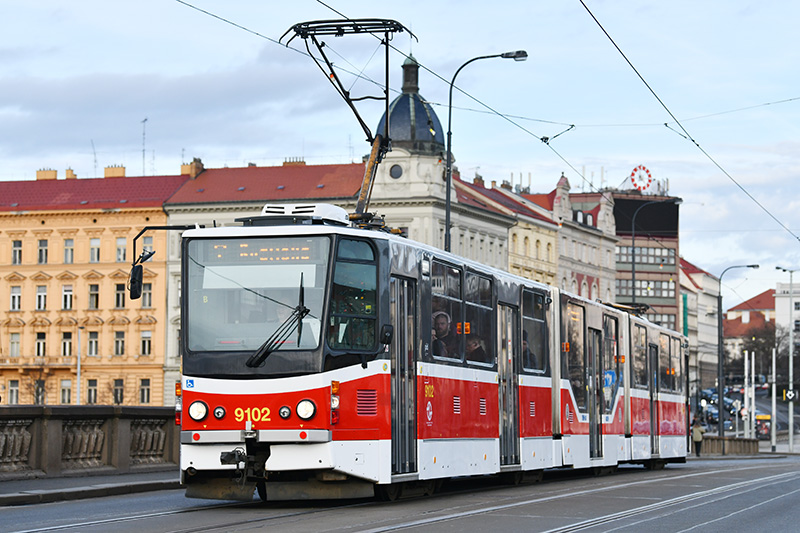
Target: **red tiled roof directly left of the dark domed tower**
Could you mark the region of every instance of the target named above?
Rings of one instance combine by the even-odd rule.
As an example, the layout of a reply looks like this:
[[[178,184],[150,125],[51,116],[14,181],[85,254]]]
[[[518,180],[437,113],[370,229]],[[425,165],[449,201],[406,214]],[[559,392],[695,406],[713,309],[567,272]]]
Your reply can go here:
[[[364,163],[212,168],[188,181],[167,205],[356,198]]]

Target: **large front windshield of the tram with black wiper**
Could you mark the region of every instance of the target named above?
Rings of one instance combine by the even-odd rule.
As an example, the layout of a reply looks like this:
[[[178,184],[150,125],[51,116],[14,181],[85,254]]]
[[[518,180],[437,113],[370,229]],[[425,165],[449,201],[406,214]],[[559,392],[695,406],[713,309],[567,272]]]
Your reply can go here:
[[[330,247],[324,236],[190,241],[183,309],[187,352],[252,354],[292,322],[301,304],[307,314],[294,321],[290,334],[277,336],[281,340],[270,352],[318,348]]]

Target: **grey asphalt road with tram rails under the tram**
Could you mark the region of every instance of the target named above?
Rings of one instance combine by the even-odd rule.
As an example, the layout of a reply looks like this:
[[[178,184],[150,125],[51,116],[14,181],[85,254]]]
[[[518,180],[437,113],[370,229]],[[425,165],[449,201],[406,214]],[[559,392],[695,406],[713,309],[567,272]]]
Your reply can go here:
[[[800,456],[691,459],[661,471],[449,482],[432,497],[230,504],[159,491],[0,508],[0,531],[795,531]]]

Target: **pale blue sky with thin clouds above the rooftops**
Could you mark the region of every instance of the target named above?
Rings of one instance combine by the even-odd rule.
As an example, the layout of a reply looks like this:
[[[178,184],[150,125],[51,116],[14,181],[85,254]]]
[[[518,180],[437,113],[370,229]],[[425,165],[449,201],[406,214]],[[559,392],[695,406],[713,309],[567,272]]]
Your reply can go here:
[[[776,265],[800,268],[800,3],[790,0],[4,0],[0,180],[43,168],[90,178],[111,165],[177,174],[194,157],[359,161],[364,132],[303,40],[278,42],[296,23],[342,16],[413,32],[392,40],[392,97],[411,53],[445,131],[460,65],[527,51],[459,73],[452,151],[463,178],[549,192],[563,173],[590,191],[629,188],[644,165],[683,199],[686,260],[715,276],[761,265],[725,274],[726,308],[788,283]],[[324,40],[353,95],[381,94],[376,39]],[[381,105],[359,110],[374,131]]]

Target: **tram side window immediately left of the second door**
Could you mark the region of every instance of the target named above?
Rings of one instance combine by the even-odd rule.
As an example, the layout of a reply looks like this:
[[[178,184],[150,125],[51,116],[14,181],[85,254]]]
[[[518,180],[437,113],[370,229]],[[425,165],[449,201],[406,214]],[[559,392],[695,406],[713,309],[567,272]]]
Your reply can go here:
[[[469,362],[493,365],[495,346],[492,342],[492,282],[489,278],[467,272],[464,287],[464,355]]]

